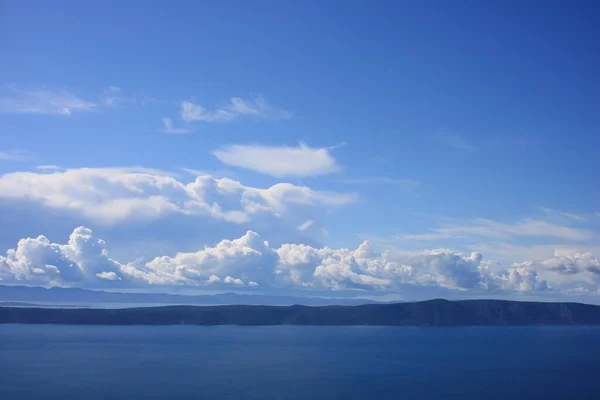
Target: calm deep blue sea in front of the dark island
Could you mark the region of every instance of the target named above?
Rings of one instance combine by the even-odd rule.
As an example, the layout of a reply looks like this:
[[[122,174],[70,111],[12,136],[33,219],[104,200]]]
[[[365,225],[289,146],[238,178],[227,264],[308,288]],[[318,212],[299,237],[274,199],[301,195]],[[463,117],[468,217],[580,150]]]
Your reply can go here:
[[[0,399],[599,399],[600,327],[0,325]]]

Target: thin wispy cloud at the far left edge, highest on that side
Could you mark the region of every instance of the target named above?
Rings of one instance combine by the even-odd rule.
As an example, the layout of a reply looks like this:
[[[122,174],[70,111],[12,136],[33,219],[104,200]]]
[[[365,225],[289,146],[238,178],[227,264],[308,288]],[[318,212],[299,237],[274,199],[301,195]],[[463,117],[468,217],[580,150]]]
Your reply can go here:
[[[66,90],[22,89],[9,85],[0,92],[0,113],[71,115],[97,107],[98,104]]]

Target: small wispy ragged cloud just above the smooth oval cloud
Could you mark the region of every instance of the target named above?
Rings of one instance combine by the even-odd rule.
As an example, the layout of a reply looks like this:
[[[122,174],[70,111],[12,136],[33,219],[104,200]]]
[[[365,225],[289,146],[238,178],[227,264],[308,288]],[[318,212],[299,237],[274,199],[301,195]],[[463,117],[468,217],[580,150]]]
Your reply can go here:
[[[287,119],[291,113],[271,106],[261,96],[248,100],[232,97],[227,105],[214,110],[190,101],[181,103],[181,118],[186,122],[230,122],[241,117]]]

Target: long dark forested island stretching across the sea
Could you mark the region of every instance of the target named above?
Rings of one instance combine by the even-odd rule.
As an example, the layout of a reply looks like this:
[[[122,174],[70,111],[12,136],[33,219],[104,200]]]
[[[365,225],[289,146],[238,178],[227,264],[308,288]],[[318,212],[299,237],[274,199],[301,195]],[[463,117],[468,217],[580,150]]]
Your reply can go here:
[[[0,323],[85,325],[574,325],[600,324],[600,306],[429,300],[360,306],[164,306],[127,309],[0,307]]]

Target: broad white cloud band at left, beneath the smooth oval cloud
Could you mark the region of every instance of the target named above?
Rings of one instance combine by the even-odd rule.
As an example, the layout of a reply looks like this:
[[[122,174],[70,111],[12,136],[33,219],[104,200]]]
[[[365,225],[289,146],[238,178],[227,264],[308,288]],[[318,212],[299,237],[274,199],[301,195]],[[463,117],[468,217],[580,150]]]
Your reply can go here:
[[[335,207],[354,201],[351,194],[320,192],[289,183],[255,188],[210,175],[181,182],[173,176],[139,168],[9,173],[0,176],[1,198],[35,201],[103,225],[148,221],[172,214],[240,224],[258,215],[282,218],[298,214],[304,207]]]

